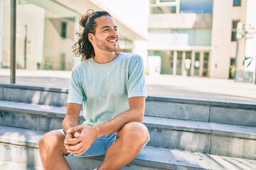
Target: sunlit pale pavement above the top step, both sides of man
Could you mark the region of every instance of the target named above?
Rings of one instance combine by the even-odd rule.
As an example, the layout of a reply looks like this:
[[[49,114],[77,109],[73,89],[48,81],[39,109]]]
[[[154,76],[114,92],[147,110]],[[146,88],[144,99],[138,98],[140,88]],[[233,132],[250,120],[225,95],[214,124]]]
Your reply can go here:
[[[9,69],[0,69],[0,84],[9,84],[9,75]],[[68,88],[69,77],[68,71],[18,69],[16,84]],[[256,104],[255,84],[228,79],[146,76],[146,91],[148,96]]]

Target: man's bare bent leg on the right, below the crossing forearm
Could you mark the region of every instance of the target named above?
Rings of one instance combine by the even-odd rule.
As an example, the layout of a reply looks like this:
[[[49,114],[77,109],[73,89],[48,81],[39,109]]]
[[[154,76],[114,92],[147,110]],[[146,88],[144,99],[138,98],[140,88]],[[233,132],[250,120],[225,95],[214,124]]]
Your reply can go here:
[[[121,169],[137,157],[148,139],[148,130],[142,123],[128,123],[117,132],[113,142],[98,170]]]

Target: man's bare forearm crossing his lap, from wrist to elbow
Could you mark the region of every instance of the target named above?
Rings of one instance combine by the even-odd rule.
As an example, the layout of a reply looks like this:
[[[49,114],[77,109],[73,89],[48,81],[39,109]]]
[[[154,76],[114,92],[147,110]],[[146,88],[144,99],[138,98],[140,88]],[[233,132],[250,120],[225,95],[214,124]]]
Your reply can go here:
[[[121,130],[124,125],[130,122],[142,122],[144,112],[139,112],[136,110],[124,111],[120,115],[117,115],[112,120],[109,120],[100,125],[96,125],[97,136],[102,137],[104,135],[110,135],[114,132]]]

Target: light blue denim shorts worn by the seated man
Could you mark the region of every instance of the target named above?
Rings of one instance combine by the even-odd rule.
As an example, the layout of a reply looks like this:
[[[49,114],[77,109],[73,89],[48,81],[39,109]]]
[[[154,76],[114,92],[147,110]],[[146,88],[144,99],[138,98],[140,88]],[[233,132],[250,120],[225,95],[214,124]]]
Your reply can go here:
[[[65,133],[63,129],[60,130],[53,130],[55,132],[60,132],[63,136],[65,136]],[[78,156],[74,156],[73,153],[65,155],[66,157],[96,157],[100,155],[104,155],[107,152],[107,149],[112,145],[114,140],[117,139],[117,133],[113,133],[112,135],[105,135],[102,137],[97,138],[97,140],[92,144],[92,146],[87,149],[87,151],[83,154],[80,154]],[[146,141],[149,142],[150,136],[148,137],[148,140]],[[143,146],[145,147],[146,144]]]

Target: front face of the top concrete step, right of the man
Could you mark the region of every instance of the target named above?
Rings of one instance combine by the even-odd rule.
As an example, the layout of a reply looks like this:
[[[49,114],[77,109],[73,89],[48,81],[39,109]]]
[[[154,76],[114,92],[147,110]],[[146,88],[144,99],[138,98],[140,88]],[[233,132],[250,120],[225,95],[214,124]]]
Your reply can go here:
[[[146,99],[145,114],[162,118],[256,126],[256,103],[248,103],[152,96]]]

